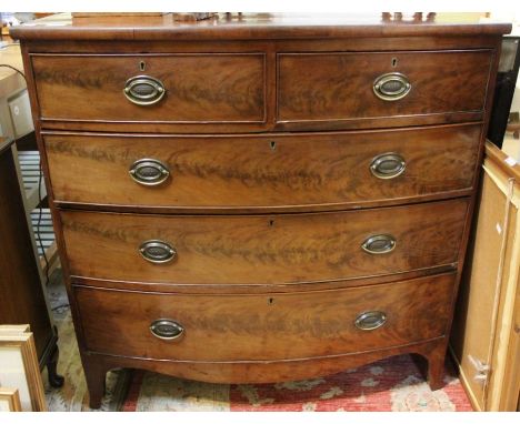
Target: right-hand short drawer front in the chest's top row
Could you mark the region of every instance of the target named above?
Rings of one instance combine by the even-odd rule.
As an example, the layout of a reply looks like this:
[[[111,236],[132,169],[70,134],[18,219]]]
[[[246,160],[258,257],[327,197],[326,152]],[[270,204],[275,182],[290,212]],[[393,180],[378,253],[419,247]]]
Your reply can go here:
[[[491,50],[279,54],[278,121],[449,122],[483,112],[491,61]]]

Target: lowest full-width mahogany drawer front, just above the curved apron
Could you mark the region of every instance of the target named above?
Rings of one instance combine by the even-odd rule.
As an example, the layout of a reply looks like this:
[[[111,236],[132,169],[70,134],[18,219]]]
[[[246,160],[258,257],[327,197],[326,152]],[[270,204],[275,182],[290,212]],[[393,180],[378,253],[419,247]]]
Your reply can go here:
[[[442,336],[452,292],[453,274],[272,295],[151,294],[74,286],[89,351],[187,361],[303,359]]]

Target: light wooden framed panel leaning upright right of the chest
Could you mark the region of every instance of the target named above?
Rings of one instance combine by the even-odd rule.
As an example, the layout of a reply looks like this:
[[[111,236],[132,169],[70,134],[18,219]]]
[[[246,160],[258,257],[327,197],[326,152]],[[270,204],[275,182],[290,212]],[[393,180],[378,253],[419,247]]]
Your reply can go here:
[[[466,376],[464,388],[471,394],[477,408],[516,411],[520,384],[520,363],[517,360],[520,350],[516,343],[519,337],[514,334],[514,313],[518,315],[520,299],[520,225],[517,210],[520,191],[518,186],[513,189],[511,203],[508,203],[507,193],[508,180],[514,179],[518,170],[503,162],[506,155],[494,145],[487,145],[486,151],[478,216],[462,274],[451,345],[460,372]],[[507,220],[506,213],[509,213]],[[493,310],[494,302],[500,305],[498,310]],[[492,372],[487,386],[473,378],[477,370],[472,357],[490,364]]]

